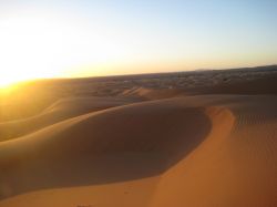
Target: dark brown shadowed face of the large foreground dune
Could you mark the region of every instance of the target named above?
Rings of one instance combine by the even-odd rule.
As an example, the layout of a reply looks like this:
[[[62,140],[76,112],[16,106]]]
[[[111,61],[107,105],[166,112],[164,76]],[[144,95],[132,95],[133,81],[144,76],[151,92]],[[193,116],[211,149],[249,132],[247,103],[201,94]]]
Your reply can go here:
[[[74,117],[0,144],[1,198],[160,175],[209,130],[204,108],[176,100]]]

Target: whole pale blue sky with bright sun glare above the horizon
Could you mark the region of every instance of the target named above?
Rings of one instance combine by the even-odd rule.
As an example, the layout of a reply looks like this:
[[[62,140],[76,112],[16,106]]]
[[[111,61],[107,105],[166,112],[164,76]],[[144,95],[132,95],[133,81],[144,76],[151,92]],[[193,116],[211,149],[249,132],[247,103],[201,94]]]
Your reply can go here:
[[[0,85],[277,63],[276,0],[0,0]]]

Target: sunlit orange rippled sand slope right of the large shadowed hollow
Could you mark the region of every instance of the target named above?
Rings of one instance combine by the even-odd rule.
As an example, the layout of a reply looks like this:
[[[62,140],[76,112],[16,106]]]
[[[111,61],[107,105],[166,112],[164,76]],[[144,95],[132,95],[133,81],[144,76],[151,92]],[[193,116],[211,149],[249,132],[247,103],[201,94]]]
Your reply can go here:
[[[208,110],[206,139],[162,175],[153,207],[277,205],[277,99],[238,96],[225,104],[225,116]]]

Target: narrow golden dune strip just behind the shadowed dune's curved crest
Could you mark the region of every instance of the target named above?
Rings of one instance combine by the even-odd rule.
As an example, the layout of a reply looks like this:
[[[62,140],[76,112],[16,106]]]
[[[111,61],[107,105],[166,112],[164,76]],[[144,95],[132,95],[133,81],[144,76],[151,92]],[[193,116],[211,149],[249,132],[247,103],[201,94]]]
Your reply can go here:
[[[134,103],[131,99],[120,97],[68,97],[62,99],[42,113],[23,120],[0,123],[0,142],[18,138],[49,125],[82,114]]]

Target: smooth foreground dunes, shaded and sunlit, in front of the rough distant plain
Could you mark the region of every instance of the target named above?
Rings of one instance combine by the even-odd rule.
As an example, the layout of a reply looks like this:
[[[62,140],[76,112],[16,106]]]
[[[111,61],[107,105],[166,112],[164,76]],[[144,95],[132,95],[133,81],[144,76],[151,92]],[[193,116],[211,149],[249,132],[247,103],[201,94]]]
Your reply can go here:
[[[275,95],[79,101],[9,126],[1,207],[277,206]]]

